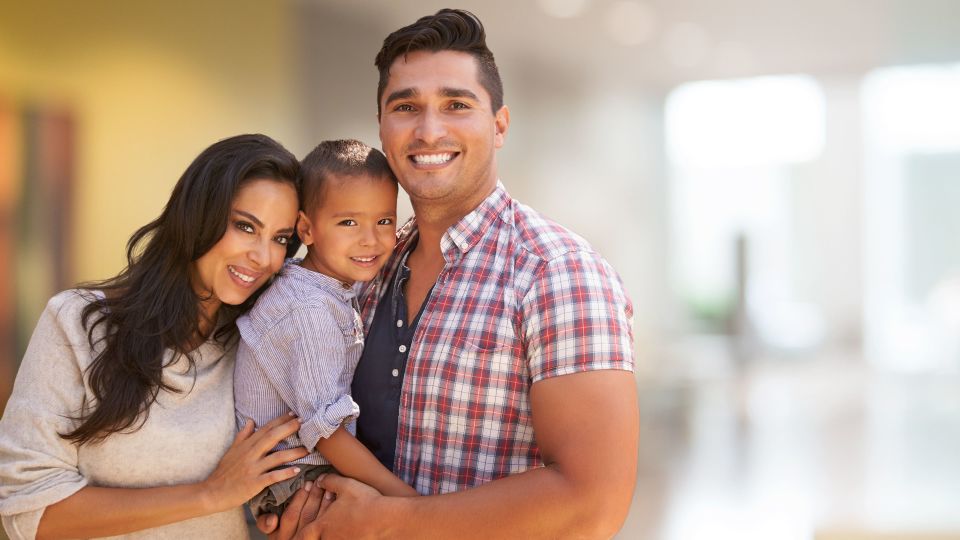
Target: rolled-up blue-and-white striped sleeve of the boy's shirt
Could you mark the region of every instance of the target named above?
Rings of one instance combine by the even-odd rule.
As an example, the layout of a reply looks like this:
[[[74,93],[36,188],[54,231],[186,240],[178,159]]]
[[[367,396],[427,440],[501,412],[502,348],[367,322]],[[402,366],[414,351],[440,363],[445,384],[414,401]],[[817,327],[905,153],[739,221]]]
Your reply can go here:
[[[360,414],[350,396],[344,331],[329,309],[292,311],[261,342],[256,359],[287,406],[300,418],[300,441],[313,451]]]

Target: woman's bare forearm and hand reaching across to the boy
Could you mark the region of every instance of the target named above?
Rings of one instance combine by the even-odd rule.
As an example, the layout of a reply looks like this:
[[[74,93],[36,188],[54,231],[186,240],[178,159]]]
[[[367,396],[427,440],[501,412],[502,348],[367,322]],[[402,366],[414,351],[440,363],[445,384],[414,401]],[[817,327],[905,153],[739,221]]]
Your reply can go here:
[[[149,529],[240,506],[266,486],[292,478],[299,469],[271,471],[307,454],[303,448],[268,452],[299,429],[281,417],[254,432],[248,422],[203,482],[153,488],[87,486],[47,507],[37,538],[100,537]]]

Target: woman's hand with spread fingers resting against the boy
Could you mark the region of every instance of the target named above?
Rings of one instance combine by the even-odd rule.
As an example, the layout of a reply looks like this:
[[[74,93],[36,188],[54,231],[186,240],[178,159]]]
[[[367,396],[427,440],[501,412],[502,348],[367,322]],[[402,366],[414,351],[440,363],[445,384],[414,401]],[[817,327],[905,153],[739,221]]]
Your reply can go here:
[[[217,468],[202,483],[211,511],[240,506],[270,484],[296,476],[299,467],[272,469],[306,456],[309,452],[305,448],[269,452],[299,429],[300,421],[292,413],[268,422],[257,431],[253,421],[248,420]]]

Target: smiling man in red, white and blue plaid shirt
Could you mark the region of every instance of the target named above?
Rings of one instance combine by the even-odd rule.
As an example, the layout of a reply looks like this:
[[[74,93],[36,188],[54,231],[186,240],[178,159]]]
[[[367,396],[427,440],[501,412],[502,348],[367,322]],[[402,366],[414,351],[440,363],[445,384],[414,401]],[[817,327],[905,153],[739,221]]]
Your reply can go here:
[[[415,219],[364,299],[358,438],[426,496],[330,475],[318,486],[336,498],[300,537],[610,537],[639,422],[619,278],[499,182],[510,114],[475,16],[423,17],[376,64],[383,151]]]

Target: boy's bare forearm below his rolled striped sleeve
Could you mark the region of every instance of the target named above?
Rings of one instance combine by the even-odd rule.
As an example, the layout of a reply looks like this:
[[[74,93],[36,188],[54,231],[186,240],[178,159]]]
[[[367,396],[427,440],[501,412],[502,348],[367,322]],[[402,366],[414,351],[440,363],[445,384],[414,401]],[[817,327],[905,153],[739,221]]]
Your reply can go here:
[[[317,442],[316,451],[336,467],[337,472],[376,488],[384,495],[411,497],[417,491],[400,480],[342,426]]]

